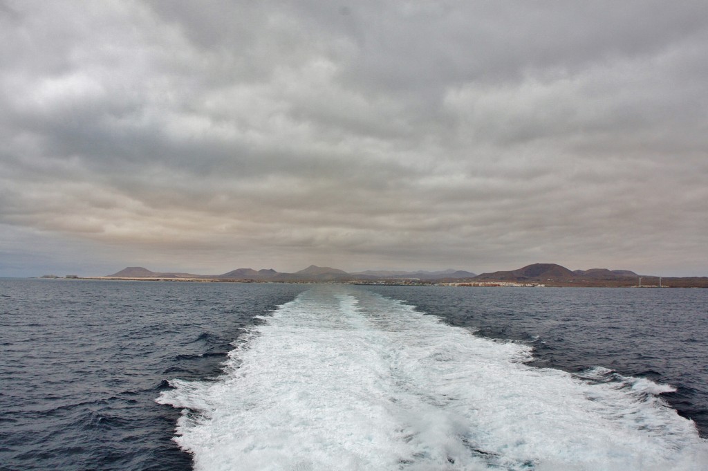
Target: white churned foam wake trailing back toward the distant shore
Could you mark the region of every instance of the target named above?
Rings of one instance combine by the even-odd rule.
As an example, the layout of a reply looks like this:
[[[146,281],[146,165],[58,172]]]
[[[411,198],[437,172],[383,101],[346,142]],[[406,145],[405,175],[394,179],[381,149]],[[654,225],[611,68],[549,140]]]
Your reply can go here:
[[[157,399],[185,409],[195,470],[708,469],[668,386],[533,368],[528,346],[341,285],[265,319],[222,377]]]

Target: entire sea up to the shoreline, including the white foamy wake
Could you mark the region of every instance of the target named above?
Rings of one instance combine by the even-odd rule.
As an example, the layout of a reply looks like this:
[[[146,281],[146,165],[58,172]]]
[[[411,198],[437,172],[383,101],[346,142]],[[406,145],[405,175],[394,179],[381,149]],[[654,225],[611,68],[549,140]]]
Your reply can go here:
[[[708,470],[708,290],[0,279],[0,470]]]

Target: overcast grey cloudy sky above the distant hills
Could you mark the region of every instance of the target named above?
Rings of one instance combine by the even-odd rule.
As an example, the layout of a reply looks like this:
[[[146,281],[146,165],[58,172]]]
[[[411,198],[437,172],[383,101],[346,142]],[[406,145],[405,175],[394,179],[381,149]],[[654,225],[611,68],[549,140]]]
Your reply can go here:
[[[706,1],[0,0],[0,276],[708,276]]]

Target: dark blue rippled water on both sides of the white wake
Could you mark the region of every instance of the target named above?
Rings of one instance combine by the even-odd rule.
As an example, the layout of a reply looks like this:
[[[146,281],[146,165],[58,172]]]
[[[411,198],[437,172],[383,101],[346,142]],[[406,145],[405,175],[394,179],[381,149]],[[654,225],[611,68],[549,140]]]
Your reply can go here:
[[[244,327],[307,285],[0,280],[0,469],[189,470],[166,380],[215,377]],[[669,384],[708,435],[704,290],[362,287],[478,335],[523,341],[534,364]],[[610,373],[612,374],[612,373]]]

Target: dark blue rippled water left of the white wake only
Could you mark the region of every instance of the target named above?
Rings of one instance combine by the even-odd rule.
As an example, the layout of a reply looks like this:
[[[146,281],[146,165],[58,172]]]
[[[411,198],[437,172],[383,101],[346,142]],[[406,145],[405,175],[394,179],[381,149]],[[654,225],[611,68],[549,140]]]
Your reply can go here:
[[[0,468],[190,470],[169,378],[217,375],[300,285],[0,280]],[[4,466],[4,467],[3,467]]]

